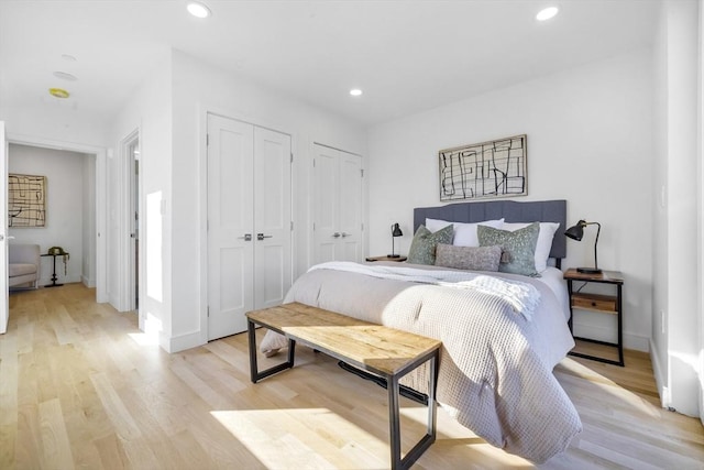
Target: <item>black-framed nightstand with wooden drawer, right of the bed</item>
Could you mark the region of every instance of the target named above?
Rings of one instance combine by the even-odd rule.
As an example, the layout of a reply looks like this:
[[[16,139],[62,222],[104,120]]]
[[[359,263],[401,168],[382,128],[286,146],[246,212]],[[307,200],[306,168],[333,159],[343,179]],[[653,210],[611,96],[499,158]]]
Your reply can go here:
[[[608,364],[624,365],[624,332],[623,332],[623,285],[624,275],[618,271],[603,271],[601,274],[584,274],[578,272],[575,269],[570,269],[564,273],[564,280],[568,282],[568,293],[570,295],[570,331],[574,339],[582,341],[594,342],[597,345],[608,346],[617,348],[618,360],[600,358],[592,354],[585,354],[582,352],[570,351],[569,354],[580,358],[593,359],[595,361],[606,362]],[[584,284],[575,292],[573,288],[574,282],[583,282]],[[582,288],[590,283],[608,284],[615,288],[616,295],[592,294],[588,292],[582,292]],[[588,310],[600,314],[616,315],[616,324],[618,328],[617,342],[600,341],[591,338],[580,338],[574,336],[572,330],[572,318],[574,317],[574,310]]]

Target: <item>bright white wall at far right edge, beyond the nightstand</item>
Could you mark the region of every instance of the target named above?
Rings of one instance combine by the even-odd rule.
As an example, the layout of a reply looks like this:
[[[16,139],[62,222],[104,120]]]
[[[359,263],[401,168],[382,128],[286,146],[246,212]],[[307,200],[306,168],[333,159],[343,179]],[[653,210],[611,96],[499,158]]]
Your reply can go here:
[[[653,89],[657,125],[654,205],[652,363],[664,406],[698,415],[698,361],[702,245],[697,194],[702,181],[697,151],[697,1],[666,1],[658,25]]]

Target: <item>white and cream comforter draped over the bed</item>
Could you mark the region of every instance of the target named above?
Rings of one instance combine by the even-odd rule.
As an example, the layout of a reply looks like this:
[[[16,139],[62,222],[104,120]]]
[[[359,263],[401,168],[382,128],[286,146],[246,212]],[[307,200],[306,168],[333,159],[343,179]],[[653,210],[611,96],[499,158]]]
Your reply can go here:
[[[535,462],[564,450],[582,424],[552,375],[574,346],[564,305],[552,289],[501,273],[491,273],[501,280],[492,288],[482,282],[477,287],[472,281],[488,273],[408,266],[411,271],[381,263],[319,265],[296,281],[285,302],[441,340],[437,398],[451,416],[492,445]],[[520,302],[496,289],[514,292]],[[270,331],[261,349],[285,345]],[[402,382],[427,392],[427,371],[419,368]]]

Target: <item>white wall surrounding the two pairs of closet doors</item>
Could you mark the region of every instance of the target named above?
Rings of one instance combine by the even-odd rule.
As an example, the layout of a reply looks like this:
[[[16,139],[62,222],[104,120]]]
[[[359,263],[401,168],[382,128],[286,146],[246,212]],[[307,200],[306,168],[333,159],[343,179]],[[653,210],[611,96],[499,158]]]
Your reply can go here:
[[[172,343],[179,350],[207,341],[206,112],[218,112],[292,135],[294,160],[294,270],[311,259],[312,143],[364,155],[364,130],[274,89],[173,53]],[[198,264],[196,264],[198,263]],[[198,266],[195,269],[195,266]]]

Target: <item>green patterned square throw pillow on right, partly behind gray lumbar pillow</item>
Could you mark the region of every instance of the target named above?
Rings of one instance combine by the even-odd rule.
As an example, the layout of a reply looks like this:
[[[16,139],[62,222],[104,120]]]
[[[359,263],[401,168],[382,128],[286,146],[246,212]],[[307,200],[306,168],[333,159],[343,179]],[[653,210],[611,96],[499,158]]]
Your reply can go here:
[[[498,271],[525,276],[540,276],[536,271],[536,243],[539,233],[540,223],[538,222],[513,232],[485,226],[476,228],[480,247],[501,245],[504,253],[508,255],[508,261],[501,263]]]

